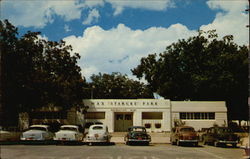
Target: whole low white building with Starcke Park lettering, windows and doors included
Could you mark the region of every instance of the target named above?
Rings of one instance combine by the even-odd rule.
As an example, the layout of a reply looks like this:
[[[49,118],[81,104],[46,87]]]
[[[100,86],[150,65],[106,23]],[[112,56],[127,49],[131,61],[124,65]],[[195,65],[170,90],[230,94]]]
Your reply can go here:
[[[196,130],[227,125],[225,102],[170,101],[167,99],[86,99],[86,123],[101,122],[110,132],[145,126],[149,132],[170,131],[176,121]]]

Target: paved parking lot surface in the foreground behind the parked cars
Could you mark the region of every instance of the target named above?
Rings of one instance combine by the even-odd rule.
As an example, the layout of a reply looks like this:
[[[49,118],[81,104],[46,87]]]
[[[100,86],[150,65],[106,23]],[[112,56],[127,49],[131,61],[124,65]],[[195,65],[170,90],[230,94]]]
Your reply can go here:
[[[242,159],[240,148],[213,146],[1,145],[1,159]]]

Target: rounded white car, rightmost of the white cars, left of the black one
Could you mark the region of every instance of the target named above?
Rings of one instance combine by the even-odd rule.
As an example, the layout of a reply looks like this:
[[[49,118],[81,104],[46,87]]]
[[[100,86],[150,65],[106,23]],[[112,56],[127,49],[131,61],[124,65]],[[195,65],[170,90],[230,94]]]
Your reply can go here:
[[[109,143],[111,135],[108,132],[108,127],[105,125],[97,124],[89,127],[88,133],[85,137],[85,142],[88,145],[93,143]]]

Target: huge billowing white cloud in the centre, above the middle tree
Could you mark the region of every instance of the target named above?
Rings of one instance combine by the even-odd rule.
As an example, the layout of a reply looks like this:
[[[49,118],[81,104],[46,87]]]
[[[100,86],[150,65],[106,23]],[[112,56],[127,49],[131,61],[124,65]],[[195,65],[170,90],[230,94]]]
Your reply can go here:
[[[124,24],[104,30],[99,26],[87,28],[82,36],[64,38],[81,55],[79,65],[88,79],[92,74],[122,72],[131,76],[142,57],[159,53],[178,39],[195,35],[181,24],[169,28],[152,27],[132,30]]]

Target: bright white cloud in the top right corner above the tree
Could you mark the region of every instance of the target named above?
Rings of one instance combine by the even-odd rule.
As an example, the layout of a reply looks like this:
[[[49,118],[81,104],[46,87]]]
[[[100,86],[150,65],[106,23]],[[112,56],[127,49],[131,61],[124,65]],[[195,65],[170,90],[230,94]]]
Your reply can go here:
[[[200,27],[202,30],[216,29],[219,37],[233,35],[237,44],[248,44],[249,32],[246,25],[249,17],[244,10],[248,6],[247,1],[214,1],[207,2],[211,9],[221,9],[215,19],[208,25]]]

